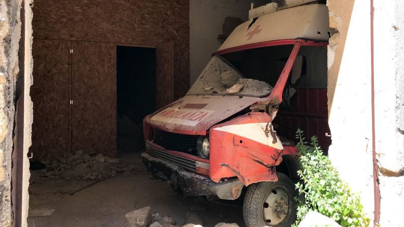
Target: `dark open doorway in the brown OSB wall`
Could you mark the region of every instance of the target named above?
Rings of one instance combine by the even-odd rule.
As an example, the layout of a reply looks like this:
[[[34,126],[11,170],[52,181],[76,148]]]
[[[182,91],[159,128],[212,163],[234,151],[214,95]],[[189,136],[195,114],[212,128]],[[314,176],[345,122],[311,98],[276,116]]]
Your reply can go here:
[[[143,118],[156,110],[156,48],[116,46],[117,150],[143,148]]]

